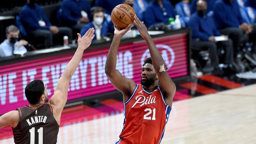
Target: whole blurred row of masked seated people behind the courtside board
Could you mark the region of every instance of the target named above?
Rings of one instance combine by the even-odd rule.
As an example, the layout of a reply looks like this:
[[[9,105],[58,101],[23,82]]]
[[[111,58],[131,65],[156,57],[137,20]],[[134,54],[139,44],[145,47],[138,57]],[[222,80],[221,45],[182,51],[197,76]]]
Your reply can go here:
[[[6,28],[0,56],[24,54],[27,45],[63,45],[64,36],[75,44],[76,34],[83,36],[91,27],[94,41],[109,39],[112,9],[122,3],[132,6],[149,30],[190,28],[192,58],[201,70],[207,63],[216,75],[256,66],[256,0],[62,0],[51,13],[54,24],[38,0],[27,0],[15,16],[16,25]]]

